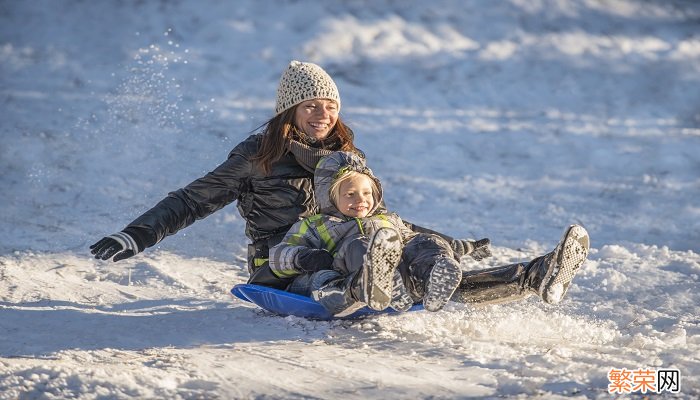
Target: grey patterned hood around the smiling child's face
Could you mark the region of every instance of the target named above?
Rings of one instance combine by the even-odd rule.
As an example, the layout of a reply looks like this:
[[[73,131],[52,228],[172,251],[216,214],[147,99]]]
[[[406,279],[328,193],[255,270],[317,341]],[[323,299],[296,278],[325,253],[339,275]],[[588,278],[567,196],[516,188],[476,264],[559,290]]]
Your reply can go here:
[[[323,157],[316,165],[314,172],[314,194],[321,214],[346,218],[331,201],[331,186],[350,171],[368,175],[379,189],[379,193],[374,193],[374,206],[367,215],[374,215],[377,211],[384,210],[382,185],[364,160],[355,153],[336,151]]]

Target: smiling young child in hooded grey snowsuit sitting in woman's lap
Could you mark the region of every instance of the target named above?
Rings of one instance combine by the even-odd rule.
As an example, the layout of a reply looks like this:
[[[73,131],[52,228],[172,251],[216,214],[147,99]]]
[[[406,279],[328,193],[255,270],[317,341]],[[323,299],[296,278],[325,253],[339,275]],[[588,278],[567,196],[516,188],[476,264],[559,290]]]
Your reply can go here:
[[[336,316],[364,305],[405,311],[420,299],[428,311],[445,306],[462,278],[450,244],[411,231],[388,212],[379,180],[360,157],[335,152],[321,159],[314,187],[320,213],[270,249],[273,273],[302,281],[287,290],[311,295]]]

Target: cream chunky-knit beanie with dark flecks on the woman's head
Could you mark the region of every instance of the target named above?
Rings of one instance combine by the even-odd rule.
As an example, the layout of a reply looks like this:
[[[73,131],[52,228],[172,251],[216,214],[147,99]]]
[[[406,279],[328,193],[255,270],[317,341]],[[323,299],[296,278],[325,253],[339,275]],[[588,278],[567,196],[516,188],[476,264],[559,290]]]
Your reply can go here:
[[[282,73],[277,87],[275,115],[302,101],[312,99],[335,100],[340,111],[338,87],[323,68],[313,63],[296,60],[290,62],[287,70]]]

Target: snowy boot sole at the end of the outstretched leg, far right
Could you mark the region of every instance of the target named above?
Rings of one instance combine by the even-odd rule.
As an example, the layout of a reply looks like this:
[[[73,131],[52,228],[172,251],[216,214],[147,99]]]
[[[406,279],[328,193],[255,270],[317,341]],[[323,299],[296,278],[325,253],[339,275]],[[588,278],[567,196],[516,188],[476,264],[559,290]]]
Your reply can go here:
[[[582,226],[571,225],[554,250],[554,268],[547,271],[542,299],[557,304],[566,295],[571,281],[588,257],[590,238]]]

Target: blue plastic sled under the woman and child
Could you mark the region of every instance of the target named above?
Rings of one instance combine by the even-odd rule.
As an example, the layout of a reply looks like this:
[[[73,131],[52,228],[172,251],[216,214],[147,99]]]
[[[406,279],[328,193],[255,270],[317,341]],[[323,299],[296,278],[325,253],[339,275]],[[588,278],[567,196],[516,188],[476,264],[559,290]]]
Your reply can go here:
[[[294,315],[296,317],[320,320],[338,319],[338,317],[334,317],[314,299],[285,292],[284,290],[258,285],[240,284],[234,286],[233,289],[231,289],[231,293],[241,300],[253,303],[264,310],[278,315]],[[418,311],[422,309],[423,306],[417,304],[411,307],[409,311]],[[357,319],[370,315],[390,313],[396,313],[396,311],[392,309],[375,311],[364,307],[346,317],[342,317],[342,319]]]

